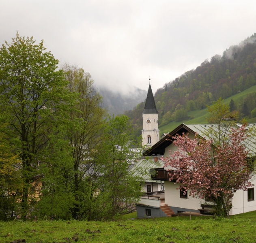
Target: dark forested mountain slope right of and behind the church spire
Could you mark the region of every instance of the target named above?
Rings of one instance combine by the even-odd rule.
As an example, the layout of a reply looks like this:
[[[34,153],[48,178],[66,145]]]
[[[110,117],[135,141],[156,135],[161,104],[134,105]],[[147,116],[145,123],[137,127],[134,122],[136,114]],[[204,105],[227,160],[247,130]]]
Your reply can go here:
[[[226,99],[256,85],[256,33],[231,46],[223,55],[204,60],[196,69],[185,72],[175,80],[166,83],[155,93],[159,111],[159,126],[169,122],[189,123],[191,111],[200,111],[219,97]],[[239,111],[240,118],[256,116],[256,93],[246,94],[243,99],[232,103],[232,111]],[[144,102],[133,110],[125,111],[131,117],[140,135]],[[206,110],[205,110],[206,111]],[[254,114],[255,113],[255,114]],[[160,128],[161,129],[161,128]]]

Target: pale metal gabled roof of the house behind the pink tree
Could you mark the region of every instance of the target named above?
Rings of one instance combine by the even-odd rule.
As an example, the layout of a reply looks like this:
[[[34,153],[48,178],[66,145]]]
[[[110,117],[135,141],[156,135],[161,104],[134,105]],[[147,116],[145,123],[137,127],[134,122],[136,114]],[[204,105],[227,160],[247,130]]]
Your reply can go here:
[[[239,128],[238,125],[235,126],[237,129]],[[146,150],[143,155],[144,156],[153,156],[153,155],[163,155],[165,152],[165,148],[172,144],[171,137],[175,136],[176,134],[182,135],[183,132],[187,133],[190,132],[192,134],[198,134],[202,138],[207,138],[206,132],[209,128],[217,129],[216,124],[181,124],[177,128],[175,128],[172,132],[169,132],[166,136],[164,136],[160,141],[158,141],[155,145],[151,148]],[[256,124],[247,124],[247,128],[255,128],[256,131]],[[250,130],[249,130],[250,131]],[[245,148],[249,151],[250,154],[256,153],[256,138],[254,133],[249,133],[249,137],[245,140]]]

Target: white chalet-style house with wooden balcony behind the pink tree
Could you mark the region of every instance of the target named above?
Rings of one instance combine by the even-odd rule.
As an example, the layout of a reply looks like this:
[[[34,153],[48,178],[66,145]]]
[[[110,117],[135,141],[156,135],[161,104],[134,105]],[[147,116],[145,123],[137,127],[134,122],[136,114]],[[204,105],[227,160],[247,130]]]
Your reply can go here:
[[[186,134],[189,133],[189,137],[191,139],[194,139],[195,134],[197,133],[201,137],[205,137],[205,132],[209,130],[210,127],[213,127],[215,125],[210,124],[190,124],[185,125],[181,124],[179,127],[174,129],[172,132],[170,132],[168,135],[163,137],[158,143],[153,145],[150,149],[148,149],[144,155],[145,156],[160,156],[162,155],[164,158],[169,157],[170,151],[174,152],[176,151],[177,147],[172,144],[172,141],[169,140],[171,136],[175,136],[176,134],[182,135],[183,132]],[[248,128],[256,127],[256,124],[248,124]],[[239,128],[237,126],[237,128]],[[168,140],[167,140],[168,139]],[[254,138],[254,135],[249,136],[249,138],[246,140],[245,147],[247,151],[249,151],[251,156],[255,156],[256,153],[256,139]],[[161,212],[163,211],[161,208],[163,208],[163,205],[168,206],[168,208],[173,211],[173,213],[180,213],[185,211],[191,211],[191,212],[206,212],[207,209],[211,210],[211,207],[207,207],[209,205],[209,202],[202,200],[200,198],[193,198],[192,196],[189,196],[189,191],[186,195],[183,194],[183,192],[180,192],[180,190],[177,190],[178,184],[175,184],[176,181],[169,181],[170,175],[168,173],[168,167],[162,167],[162,168],[155,168],[156,174],[151,176],[154,180],[161,180],[165,181],[165,193],[164,193],[164,204],[163,200],[160,202],[153,201],[154,198],[151,198],[151,201],[148,200],[147,203],[143,204],[139,203],[139,207],[137,206],[137,214],[138,217],[143,217],[142,215],[147,215],[147,217],[153,217],[156,215],[160,215],[159,217],[167,217],[165,213]],[[256,185],[256,179],[252,179],[252,184]],[[145,201],[145,199],[143,199]],[[158,205],[157,207],[155,205]],[[151,208],[151,205],[153,207]],[[249,211],[256,210],[256,201],[254,200],[254,187],[248,188],[247,191],[238,190],[234,197],[232,198],[232,209],[230,210],[230,215],[235,215],[238,213],[245,213]],[[206,211],[203,211],[203,209],[206,209]],[[157,211],[158,210],[158,211]],[[150,213],[152,212],[152,213]],[[170,211],[169,211],[170,212]],[[153,213],[155,215],[153,215]],[[170,217],[170,213],[169,213]]]

